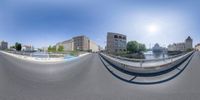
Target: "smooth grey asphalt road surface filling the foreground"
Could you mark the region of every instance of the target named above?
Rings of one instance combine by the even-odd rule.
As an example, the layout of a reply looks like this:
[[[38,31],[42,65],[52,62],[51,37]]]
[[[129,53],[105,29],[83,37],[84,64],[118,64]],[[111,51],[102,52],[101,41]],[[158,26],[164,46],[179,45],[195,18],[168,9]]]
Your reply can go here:
[[[97,54],[42,64],[0,53],[0,100],[200,100],[200,53],[178,77],[154,85],[117,79]]]

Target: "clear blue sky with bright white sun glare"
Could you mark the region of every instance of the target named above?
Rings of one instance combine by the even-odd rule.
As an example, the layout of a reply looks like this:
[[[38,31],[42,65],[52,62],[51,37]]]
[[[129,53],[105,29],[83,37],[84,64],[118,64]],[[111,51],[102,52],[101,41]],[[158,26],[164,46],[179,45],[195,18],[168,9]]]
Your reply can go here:
[[[149,48],[200,42],[198,0],[0,0],[0,41],[47,47],[85,35],[101,46],[107,32]]]

